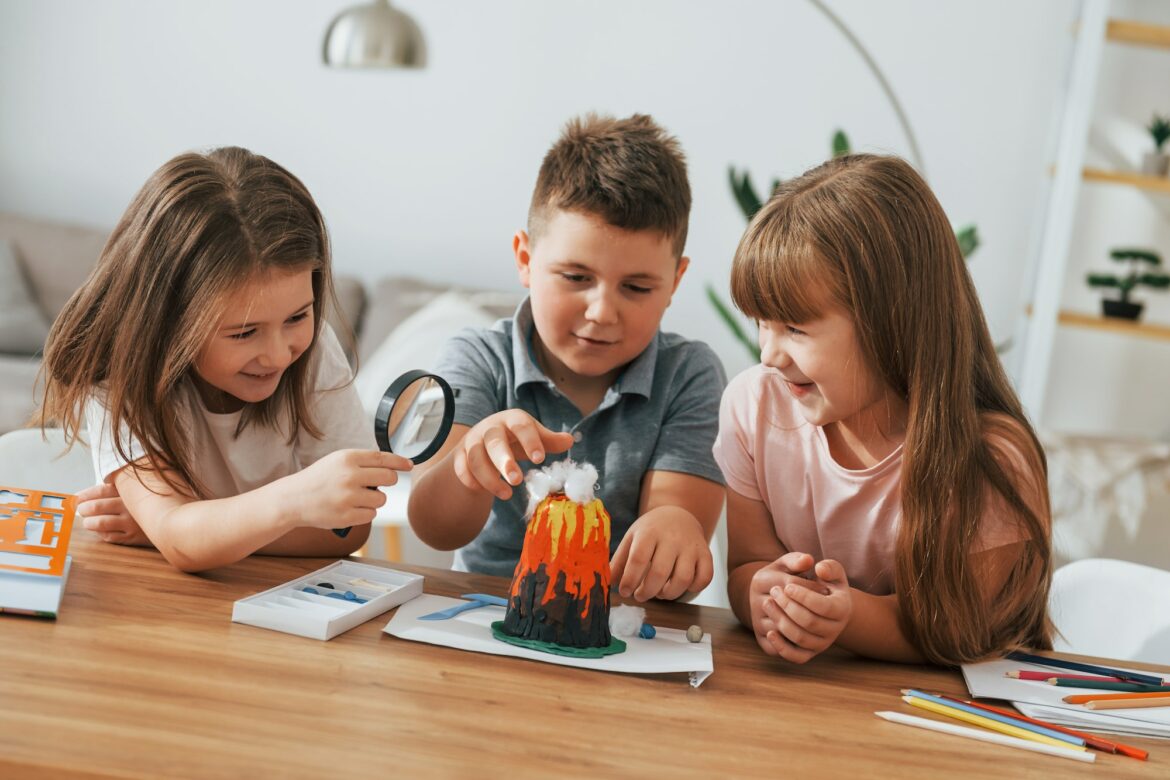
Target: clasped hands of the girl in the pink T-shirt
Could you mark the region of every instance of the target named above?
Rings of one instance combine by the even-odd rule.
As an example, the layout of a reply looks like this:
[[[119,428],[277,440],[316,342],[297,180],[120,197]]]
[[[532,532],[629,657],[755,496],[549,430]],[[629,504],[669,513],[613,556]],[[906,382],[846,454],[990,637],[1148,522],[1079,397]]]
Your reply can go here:
[[[776,655],[793,663],[805,663],[833,644],[853,614],[845,567],[826,559],[813,567],[813,574],[814,582],[773,585],[762,602],[772,626],[764,639]]]

